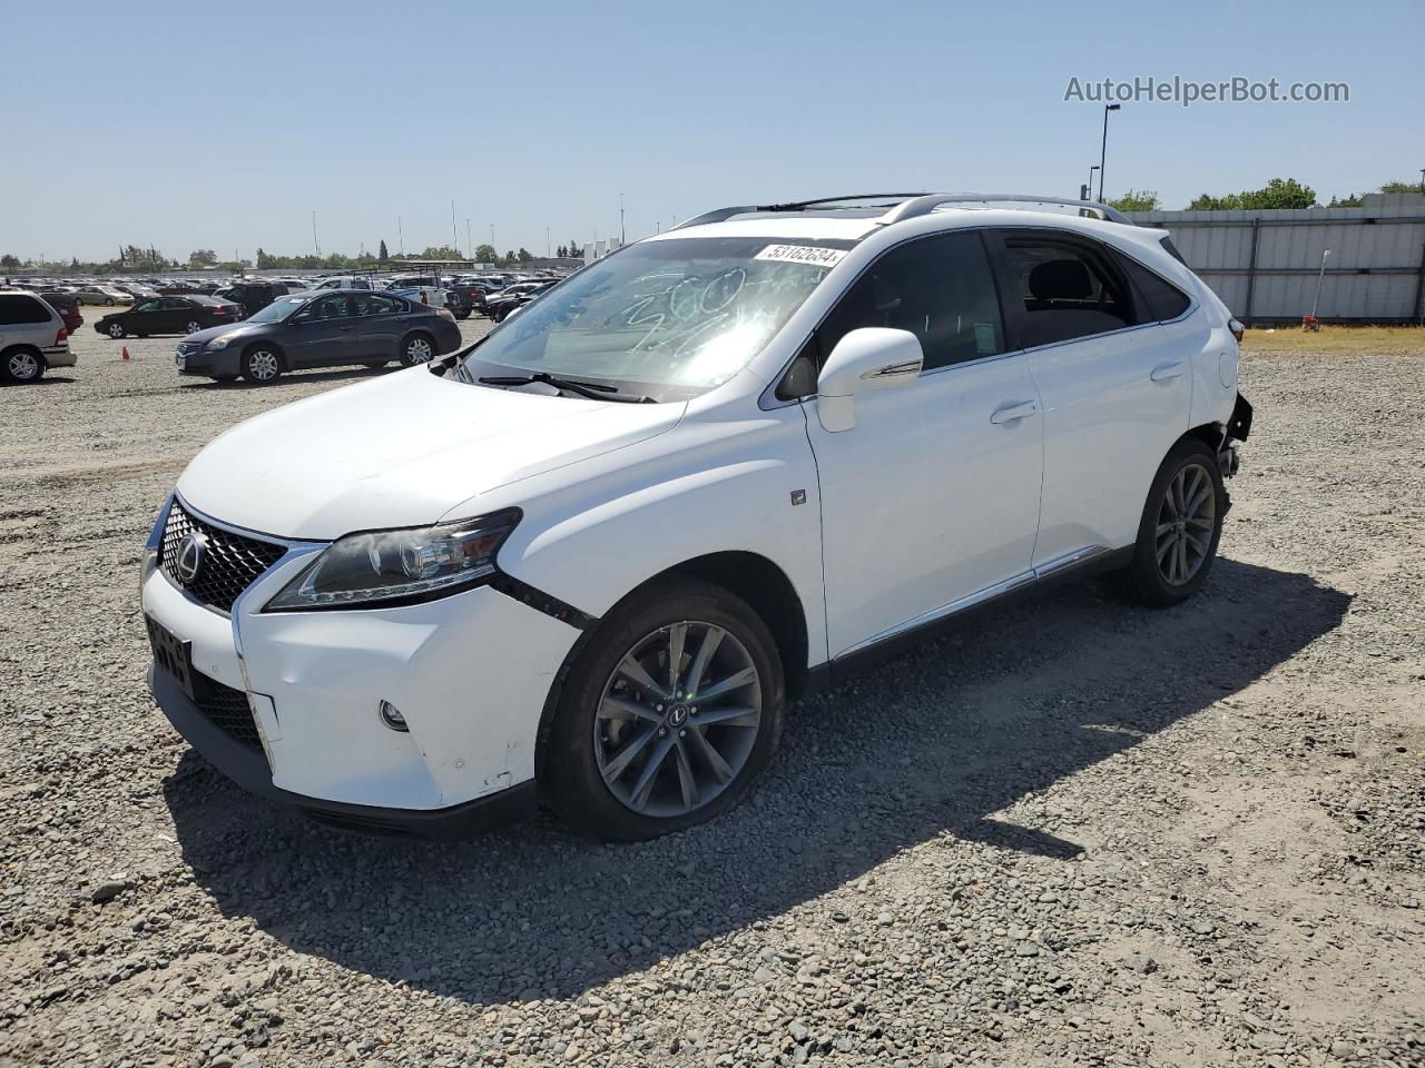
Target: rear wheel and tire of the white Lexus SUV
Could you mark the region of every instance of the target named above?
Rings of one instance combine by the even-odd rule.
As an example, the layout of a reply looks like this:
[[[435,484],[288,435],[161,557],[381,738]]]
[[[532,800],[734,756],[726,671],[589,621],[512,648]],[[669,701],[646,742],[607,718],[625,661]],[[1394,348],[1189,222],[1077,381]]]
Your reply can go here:
[[[1178,441],[1153,478],[1133,560],[1116,575],[1119,590],[1153,608],[1190,598],[1213,570],[1226,511],[1217,456],[1197,439]]]

